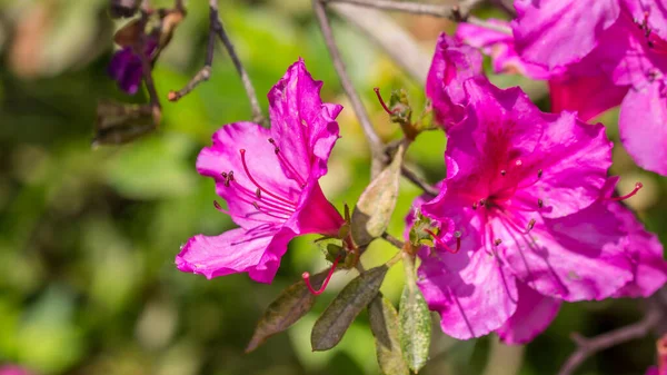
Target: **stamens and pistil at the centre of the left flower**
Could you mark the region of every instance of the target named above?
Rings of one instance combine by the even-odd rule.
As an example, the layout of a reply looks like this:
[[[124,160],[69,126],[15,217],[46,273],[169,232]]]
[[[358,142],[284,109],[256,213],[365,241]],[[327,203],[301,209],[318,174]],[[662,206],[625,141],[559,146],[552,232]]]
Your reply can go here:
[[[269,138],[269,144],[273,145],[275,155],[278,158],[278,162],[283,167],[286,174],[289,175],[299,187],[302,189],[306,186],[306,180],[299,175],[297,169],[293,167],[291,162],[282,155],[280,148],[276,145],[276,141],[272,138]],[[257,215],[266,215],[276,219],[287,220],[289,217],[296,211],[297,203],[293,201],[290,197],[287,197],[285,194],[279,191],[270,190],[265,185],[261,185],[255,176],[252,176],[252,171],[248,166],[247,160],[247,151],[246,149],[239,149],[239,156],[241,158],[241,164],[243,166],[243,174],[250,181],[251,186],[246,186],[240,184],[235,177],[233,170],[228,172],[222,172],[220,176],[222,177],[222,185],[226,188],[233,189],[235,194],[233,198],[238,201],[242,201],[249,206],[252,206],[252,210],[245,215],[245,218],[253,219],[257,221],[270,223],[272,220],[266,220],[260,218],[255,218]],[[227,215],[231,214],[228,210],[222,209],[220,205],[215,201],[216,208],[221,213]]]

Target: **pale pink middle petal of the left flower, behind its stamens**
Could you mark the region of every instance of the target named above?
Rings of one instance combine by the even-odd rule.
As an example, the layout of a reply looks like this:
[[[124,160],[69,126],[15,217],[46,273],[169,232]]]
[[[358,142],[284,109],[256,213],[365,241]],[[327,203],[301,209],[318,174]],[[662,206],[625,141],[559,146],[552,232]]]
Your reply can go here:
[[[248,178],[242,164],[240,149],[246,150],[246,161],[250,176],[267,190],[298,204],[301,187],[285,175],[273,146],[269,144],[269,129],[252,122],[236,122],[227,125],[213,134],[213,144],[205,147],[197,158],[197,170],[216,180],[216,191],[227,200],[231,218],[238,225],[251,228],[258,223],[283,223],[289,217],[286,213],[283,219],[257,213],[248,203],[248,196],[241,195],[239,189],[225,186],[222,172],[233,171],[235,180],[255,193],[257,185]]]

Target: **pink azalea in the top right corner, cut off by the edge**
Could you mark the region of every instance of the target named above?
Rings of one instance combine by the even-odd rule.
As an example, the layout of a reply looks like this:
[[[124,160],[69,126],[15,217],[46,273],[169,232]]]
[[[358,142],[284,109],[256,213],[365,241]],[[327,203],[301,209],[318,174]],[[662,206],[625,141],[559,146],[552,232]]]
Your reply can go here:
[[[667,175],[667,2],[516,0],[515,6],[512,30],[524,61],[565,69],[550,83],[556,109],[576,109],[588,119],[620,105],[624,146],[639,166]]]

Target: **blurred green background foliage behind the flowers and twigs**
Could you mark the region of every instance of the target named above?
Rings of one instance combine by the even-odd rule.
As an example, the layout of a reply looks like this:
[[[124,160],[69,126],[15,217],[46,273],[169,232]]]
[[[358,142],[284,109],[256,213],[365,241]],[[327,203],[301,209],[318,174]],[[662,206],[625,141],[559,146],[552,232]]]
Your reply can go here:
[[[232,225],[213,208],[213,182],[197,175],[195,160],[217,128],[250,117],[249,105],[220,45],[209,82],[178,103],[163,100],[203,62],[207,1],[190,0],[186,20],[155,69],[161,128],[129,145],[92,149],[98,100],[147,100],[142,93],[123,96],[106,73],[113,31],[122,24],[108,17],[107,4],[0,0],[0,363],[44,375],[378,374],[366,313],[337,348],[310,352],[317,314],[355,272],[337,274],[313,312],[288,333],[243,354],[257,319],[278,293],[302,272],[327,266],[313,238],[290,244],[272,285],[246,275],[207,280],[176,269],[173,257],[190,236],[216,235]],[[368,150],[309,1],[220,1],[220,13],[265,109],[266,92],[298,57],[325,81],[325,99],[346,106],[339,117],[342,138],[321,185],[337,207],[352,205],[368,184]],[[394,16],[427,56],[438,33],[454,29],[444,20]],[[376,128],[385,140],[400,137],[371,88],[380,87],[386,97],[392,88],[408,89],[418,112],[422,87],[366,36],[337,18],[334,27]],[[525,85],[548,107],[544,85],[514,76],[492,79],[500,86]],[[616,114],[604,121],[617,139]],[[444,175],[444,148],[441,134],[422,136],[408,161],[435,182]],[[621,190],[644,182],[628,204],[665,243],[665,178],[639,170],[620,148],[613,171],[624,176]],[[401,234],[418,194],[402,182],[392,234]],[[394,251],[378,241],[362,261],[372,266]],[[400,268],[382,287],[395,302]],[[634,322],[641,316],[639,306],[634,300],[566,305],[527,347],[505,347],[492,337],[456,342],[440,333],[435,318],[431,362],[424,374],[554,374],[574,349],[571,332],[594,335]],[[581,374],[644,374],[654,357],[654,338],[647,337],[597,355]]]

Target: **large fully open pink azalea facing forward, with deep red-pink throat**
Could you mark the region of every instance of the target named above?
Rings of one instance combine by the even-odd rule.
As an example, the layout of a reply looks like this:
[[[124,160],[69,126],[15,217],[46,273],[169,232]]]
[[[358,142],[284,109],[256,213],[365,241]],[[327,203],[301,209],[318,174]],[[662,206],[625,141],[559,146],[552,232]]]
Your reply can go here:
[[[455,46],[440,43],[437,53]],[[445,333],[525,343],[561,300],[647,295],[665,283],[665,264],[653,259],[661,247],[609,198],[616,180],[607,181],[601,125],[544,114],[519,88],[485,77],[457,83],[466,114],[448,130],[447,177],[436,198],[415,205],[440,229],[435,248],[419,253],[418,284]]]

